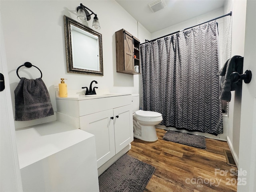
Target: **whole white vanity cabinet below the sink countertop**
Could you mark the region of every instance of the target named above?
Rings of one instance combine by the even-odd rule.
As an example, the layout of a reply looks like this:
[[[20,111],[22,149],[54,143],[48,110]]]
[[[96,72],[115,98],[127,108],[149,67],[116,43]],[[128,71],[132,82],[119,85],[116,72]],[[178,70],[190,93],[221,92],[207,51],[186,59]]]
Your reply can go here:
[[[104,164],[108,164],[108,168],[117,160],[114,156],[130,149],[133,141],[131,94],[96,95],[74,100],[72,97],[57,98],[56,102],[59,113],[74,116],[78,121],[74,124],[95,136],[98,168]],[[108,162],[111,158],[114,158],[113,162]]]

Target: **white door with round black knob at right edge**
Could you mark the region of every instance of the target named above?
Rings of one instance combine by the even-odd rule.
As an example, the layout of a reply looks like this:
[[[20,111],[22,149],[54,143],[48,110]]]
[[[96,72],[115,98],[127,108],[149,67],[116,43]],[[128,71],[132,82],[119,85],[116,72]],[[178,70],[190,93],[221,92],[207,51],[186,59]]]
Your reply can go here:
[[[246,28],[243,70],[252,71],[252,80],[242,85],[238,162],[238,192],[256,191],[256,1],[246,2]]]

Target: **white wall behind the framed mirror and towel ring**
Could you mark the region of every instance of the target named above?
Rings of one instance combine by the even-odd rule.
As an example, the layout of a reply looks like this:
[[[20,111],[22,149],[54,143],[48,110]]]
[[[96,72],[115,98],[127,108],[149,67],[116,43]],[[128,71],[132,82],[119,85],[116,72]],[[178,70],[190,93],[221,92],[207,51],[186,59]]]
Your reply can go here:
[[[55,91],[58,90],[60,78],[67,79],[65,82],[68,90],[81,90],[82,86],[89,86],[92,80],[96,80],[99,89],[139,93],[140,75],[116,72],[115,32],[124,28],[140,39],[141,43],[150,39],[150,32],[114,0],[82,1],[99,18],[101,29],[98,32],[102,34],[104,76],[67,72],[63,15],[76,20],[76,7],[80,3],[81,1],[76,0],[0,1],[13,109],[14,89],[20,81],[16,69],[26,61],[42,71],[42,80],[49,90],[54,111],[57,110]],[[85,25],[91,27],[92,20]],[[24,68],[19,70],[20,76],[40,77],[36,68]],[[48,121],[50,118],[42,119]],[[44,121],[42,119],[26,123],[38,124],[39,121]],[[15,123],[17,128],[22,127],[24,122]]]

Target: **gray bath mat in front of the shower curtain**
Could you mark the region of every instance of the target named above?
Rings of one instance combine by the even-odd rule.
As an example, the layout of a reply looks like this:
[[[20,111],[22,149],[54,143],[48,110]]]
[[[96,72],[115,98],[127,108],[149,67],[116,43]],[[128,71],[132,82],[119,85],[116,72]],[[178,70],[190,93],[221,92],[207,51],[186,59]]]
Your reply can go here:
[[[163,139],[188,146],[206,149],[205,137],[200,135],[168,130]]]

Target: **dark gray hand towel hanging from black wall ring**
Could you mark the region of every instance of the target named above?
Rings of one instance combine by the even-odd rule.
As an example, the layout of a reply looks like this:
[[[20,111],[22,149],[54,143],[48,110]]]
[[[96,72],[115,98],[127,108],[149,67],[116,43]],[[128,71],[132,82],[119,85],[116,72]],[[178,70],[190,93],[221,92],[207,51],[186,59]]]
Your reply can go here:
[[[14,95],[16,121],[28,121],[54,114],[49,92],[41,78],[22,77]]]

